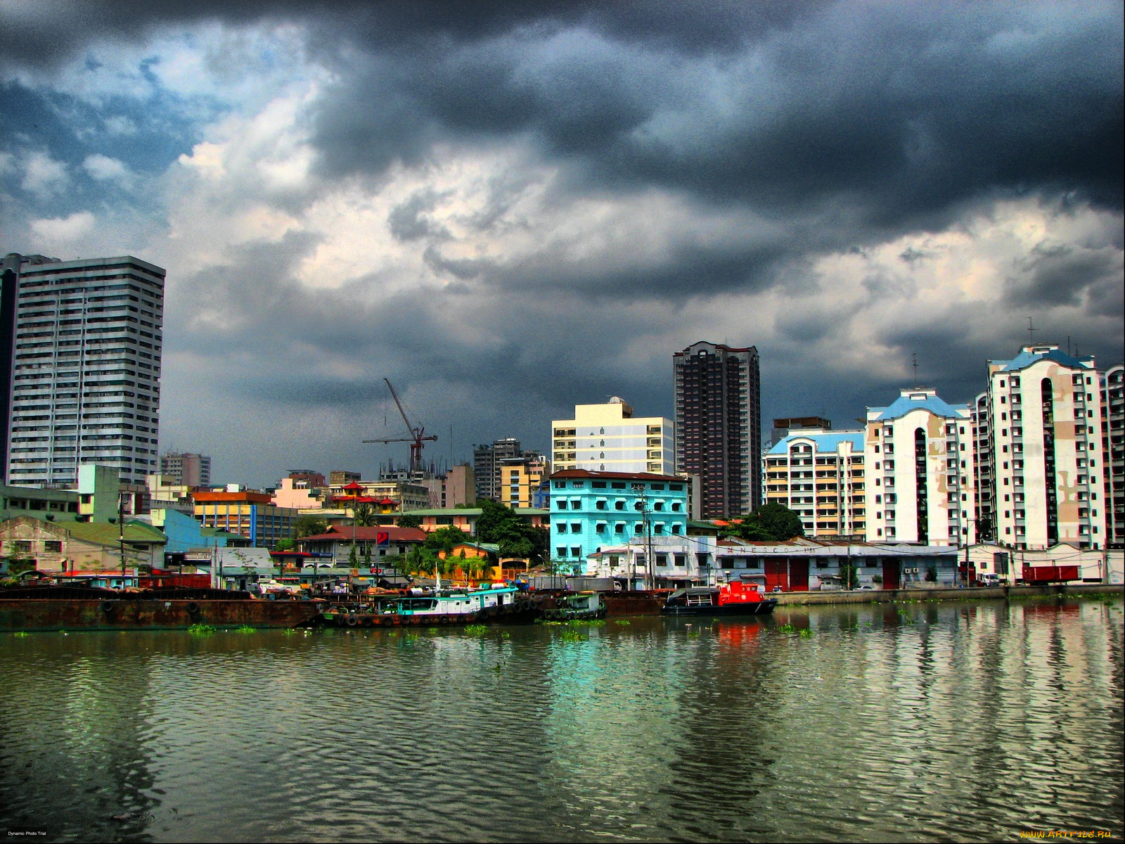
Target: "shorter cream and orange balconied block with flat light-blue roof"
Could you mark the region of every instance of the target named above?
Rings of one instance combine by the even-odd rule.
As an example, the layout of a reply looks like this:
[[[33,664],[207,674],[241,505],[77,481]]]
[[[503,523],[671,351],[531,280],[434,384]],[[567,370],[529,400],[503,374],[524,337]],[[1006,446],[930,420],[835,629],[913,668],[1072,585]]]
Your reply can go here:
[[[796,513],[807,537],[866,537],[864,439],[821,428],[783,436],[766,452],[766,503]]]

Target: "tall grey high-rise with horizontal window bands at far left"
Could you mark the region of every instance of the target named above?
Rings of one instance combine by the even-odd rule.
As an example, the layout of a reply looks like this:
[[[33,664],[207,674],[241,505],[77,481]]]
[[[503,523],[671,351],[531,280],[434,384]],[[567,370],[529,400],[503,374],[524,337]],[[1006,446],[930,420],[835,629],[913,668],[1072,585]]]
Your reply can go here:
[[[145,483],[159,466],[164,270],[132,255],[11,253],[0,272],[8,483],[73,485],[83,464]]]

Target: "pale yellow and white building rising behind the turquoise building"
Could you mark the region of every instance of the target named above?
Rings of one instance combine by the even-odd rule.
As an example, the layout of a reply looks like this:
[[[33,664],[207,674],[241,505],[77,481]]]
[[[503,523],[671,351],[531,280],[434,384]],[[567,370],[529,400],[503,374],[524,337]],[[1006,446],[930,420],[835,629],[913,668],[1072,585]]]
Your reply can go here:
[[[675,425],[663,416],[633,416],[624,399],[575,405],[574,419],[551,422],[551,452],[556,472],[676,470]]]

